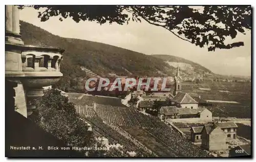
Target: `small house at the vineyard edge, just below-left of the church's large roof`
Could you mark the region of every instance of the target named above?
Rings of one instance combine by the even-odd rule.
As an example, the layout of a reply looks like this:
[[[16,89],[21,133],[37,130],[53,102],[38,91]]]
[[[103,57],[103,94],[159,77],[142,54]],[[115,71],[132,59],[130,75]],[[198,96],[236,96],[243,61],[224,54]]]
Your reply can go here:
[[[178,118],[179,109],[176,106],[162,106],[158,112],[160,120]]]

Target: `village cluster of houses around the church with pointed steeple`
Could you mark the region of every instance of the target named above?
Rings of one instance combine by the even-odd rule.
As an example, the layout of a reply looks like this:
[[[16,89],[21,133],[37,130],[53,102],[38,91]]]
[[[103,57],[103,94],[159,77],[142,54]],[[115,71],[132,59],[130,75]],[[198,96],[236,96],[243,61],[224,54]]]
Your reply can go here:
[[[244,148],[244,155],[250,154],[250,142],[237,136],[238,126],[232,118],[212,117],[211,111],[207,109],[208,106],[212,106],[210,102],[200,97],[196,101],[189,94],[182,92],[179,67],[174,81],[173,94],[156,91],[145,95],[143,90],[136,90],[126,96],[122,103],[130,107],[128,100],[138,98],[135,104],[138,110],[157,115],[161,121],[214,156],[236,156],[235,150],[238,148]]]

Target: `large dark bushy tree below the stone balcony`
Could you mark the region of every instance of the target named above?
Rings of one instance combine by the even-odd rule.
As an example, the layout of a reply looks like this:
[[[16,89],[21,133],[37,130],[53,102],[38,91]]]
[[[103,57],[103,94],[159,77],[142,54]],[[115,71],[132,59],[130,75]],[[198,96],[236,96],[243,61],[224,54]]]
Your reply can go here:
[[[32,113],[30,119],[35,121],[42,129],[50,132],[68,146],[92,146],[93,134],[88,126],[76,113],[73,103],[62,96],[59,90],[49,89],[44,96],[35,101],[39,107]]]

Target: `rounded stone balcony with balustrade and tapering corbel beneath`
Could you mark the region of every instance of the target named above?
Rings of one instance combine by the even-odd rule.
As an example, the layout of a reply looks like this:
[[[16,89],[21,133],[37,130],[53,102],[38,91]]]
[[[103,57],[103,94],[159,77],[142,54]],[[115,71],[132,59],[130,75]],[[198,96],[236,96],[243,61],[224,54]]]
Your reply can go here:
[[[45,86],[56,83],[60,73],[60,62],[64,50],[51,47],[36,47],[24,45],[22,49],[22,78],[27,94],[27,113],[30,115],[35,109],[33,100],[42,97]]]

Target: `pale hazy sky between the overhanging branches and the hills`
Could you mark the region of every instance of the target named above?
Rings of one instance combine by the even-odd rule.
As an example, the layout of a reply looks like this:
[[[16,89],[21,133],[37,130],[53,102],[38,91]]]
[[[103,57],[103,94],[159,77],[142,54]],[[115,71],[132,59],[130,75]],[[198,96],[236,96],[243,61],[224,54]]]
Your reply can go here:
[[[238,34],[234,39],[243,41],[245,44],[243,47],[208,52],[207,48],[200,48],[176,37],[162,27],[150,25],[143,20],[131,21],[128,25],[99,25],[90,21],[76,23],[71,18],[59,21],[57,17],[51,17],[48,21],[41,22],[37,12],[38,10],[33,8],[25,8],[20,11],[20,20],[61,37],[102,42],[146,55],[179,56],[199,63],[216,74],[241,76],[251,74],[250,32],[246,35]]]

